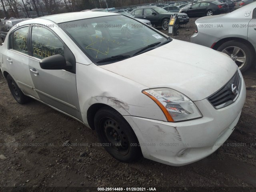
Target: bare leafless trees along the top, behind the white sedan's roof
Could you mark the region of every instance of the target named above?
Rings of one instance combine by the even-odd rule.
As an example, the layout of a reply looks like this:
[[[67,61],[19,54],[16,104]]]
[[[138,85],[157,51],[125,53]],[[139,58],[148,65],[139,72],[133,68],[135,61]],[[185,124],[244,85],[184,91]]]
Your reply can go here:
[[[156,2],[156,0],[1,0],[0,17],[1,18],[17,18],[20,13],[32,17],[31,12],[34,11],[35,17],[77,12],[93,8],[108,8],[132,6],[137,4],[145,4]]]

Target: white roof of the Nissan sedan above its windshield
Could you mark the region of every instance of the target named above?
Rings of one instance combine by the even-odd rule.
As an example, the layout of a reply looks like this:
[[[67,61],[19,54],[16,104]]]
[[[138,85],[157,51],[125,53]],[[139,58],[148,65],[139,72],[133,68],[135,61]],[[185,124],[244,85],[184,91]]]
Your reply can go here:
[[[69,22],[74,20],[81,20],[81,19],[88,19],[88,18],[102,17],[102,16],[111,16],[111,15],[118,15],[118,14],[113,12],[98,12],[98,11],[86,12],[85,11],[85,12],[55,14],[55,15],[43,16],[39,18],[51,20],[55,23],[63,23],[63,22]]]

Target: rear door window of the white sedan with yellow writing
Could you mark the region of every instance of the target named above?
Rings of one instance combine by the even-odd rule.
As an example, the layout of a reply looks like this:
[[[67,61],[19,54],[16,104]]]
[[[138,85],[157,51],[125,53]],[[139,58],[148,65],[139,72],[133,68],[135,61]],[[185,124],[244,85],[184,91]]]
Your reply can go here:
[[[28,27],[20,28],[13,32],[13,47],[14,50],[28,54]],[[12,43],[12,42],[10,42]]]

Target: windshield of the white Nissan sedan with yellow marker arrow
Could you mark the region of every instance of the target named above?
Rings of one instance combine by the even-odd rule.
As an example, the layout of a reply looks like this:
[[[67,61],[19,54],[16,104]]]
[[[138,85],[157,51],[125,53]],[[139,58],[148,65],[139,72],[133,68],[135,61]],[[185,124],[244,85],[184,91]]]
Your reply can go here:
[[[136,56],[171,40],[124,15],[70,21],[61,26],[92,62],[98,65]]]

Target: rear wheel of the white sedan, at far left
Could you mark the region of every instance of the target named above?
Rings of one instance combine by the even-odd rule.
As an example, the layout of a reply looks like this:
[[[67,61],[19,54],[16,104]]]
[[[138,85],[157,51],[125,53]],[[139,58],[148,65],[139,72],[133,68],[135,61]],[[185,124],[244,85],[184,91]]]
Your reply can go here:
[[[22,93],[22,91],[20,90],[20,88],[12,78],[12,76],[8,74],[6,77],[6,80],[12,96],[19,104],[25,104],[30,101],[30,97]]]

